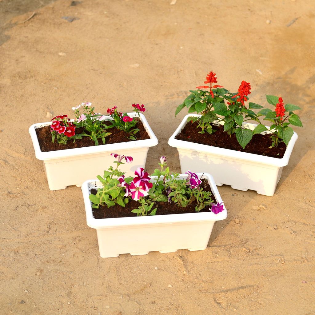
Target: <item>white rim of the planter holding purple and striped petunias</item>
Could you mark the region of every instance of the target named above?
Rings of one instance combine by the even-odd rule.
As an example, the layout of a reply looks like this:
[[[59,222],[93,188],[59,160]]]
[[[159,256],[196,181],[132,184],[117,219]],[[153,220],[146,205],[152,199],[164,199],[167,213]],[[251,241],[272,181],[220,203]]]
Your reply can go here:
[[[197,173],[199,178],[203,174],[203,178],[206,178],[211,186],[211,191],[213,192],[217,202],[223,202],[218,189],[215,185],[215,181],[211,175],[208,173]],[[180,174],[181,178],[186,178],[186,174]],[[157,176],[151,177],[153,180],[157,179]],[[96,186],[96,187],[95,187]],[[82,184],[83,199],[86,212],[86,222],[89,227],[99,229],[99,228],[124,228],[130,226],[148,226],[157,224],[172,224],[175,222],[189,223],[189,222],[200,222],[200,221],[221,221],[227,217],[227,211],[224,206],[224,210],[219,214],[214,214],[213,212],[196,212],[196,213],[184,213],[184,214],[173,214],[173,215],[146,215],[140,217],[123,217],[123,218],[111,218],[111,219],[95,219],[92,214],[92,203],[89,200],[89,194],[91,188],[101,187],[102,184],[99,180],[91,179],[86,180]],[[110,208],[109,208],[110,211]]]

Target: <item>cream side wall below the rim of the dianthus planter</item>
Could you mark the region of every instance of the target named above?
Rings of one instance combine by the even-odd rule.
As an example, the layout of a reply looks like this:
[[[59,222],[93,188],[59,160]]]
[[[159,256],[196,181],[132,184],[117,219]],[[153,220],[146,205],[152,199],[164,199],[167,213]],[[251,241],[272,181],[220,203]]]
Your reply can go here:
[[[134,175],[138,167],[145,168],[148,150],[147,147],[43,161],[49,189],[65,189],[71,185],[81,187],[85,180],[96,178],[97,175],[103,176],[104,170],[113,164],[111,153],[132,156],[134,161],[121,165],[120,169],[127,176]]]

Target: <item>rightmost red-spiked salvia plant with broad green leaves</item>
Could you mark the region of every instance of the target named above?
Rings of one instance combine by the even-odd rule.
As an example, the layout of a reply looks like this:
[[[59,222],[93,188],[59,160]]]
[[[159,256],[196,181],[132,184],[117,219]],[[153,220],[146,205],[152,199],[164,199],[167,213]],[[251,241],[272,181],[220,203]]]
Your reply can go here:
[[[303,127],[300,117],[293,112],[301,108],[293,104],[284,105],[282,97],[266,95],[266,99],[275,109],[272,111],[269,108],[264,108],[258,112],[258,116],[265,116],[263,120],[271,121],[272,125],[270,129],[267,129],[264,125],[259,124],[254,129],[254,134],[268,131],[271,133],[271,147],[278,146],[280,142],[284,142],[285,145],[288,145],[293,136],[293,129],[289,127],[289,125]]]

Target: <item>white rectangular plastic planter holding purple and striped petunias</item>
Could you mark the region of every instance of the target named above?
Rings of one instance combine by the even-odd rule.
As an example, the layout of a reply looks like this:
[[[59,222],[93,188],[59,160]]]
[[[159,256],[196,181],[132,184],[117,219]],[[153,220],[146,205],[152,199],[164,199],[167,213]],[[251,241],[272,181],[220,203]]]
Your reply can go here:
[[[198,174],[200,177],[202,174]],[[186,178],[187,175],[180,175]],[[156,178],[156,177],[155,177]],[[215,181],[204,173],[217,200],[222,202]],[[92,188],[102,187],[99,180],[87,180],[82,185],[87,225],[96,229],[101,257],[119,254],[146,255],[150,251],[175,252],[177,249],[207,248],[215,221],[224,220],[227,211],[175,215],[148,215],[128,218],[95,219],[89,194]],[[128,204],[127,206],[128,207]],[[111,211],[111,208],[108,209]]]

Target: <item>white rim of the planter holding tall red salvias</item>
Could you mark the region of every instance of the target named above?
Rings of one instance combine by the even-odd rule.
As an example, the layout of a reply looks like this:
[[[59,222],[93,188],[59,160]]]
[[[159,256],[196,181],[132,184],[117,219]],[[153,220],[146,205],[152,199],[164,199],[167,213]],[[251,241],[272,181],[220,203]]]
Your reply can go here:
[[[181,121],[178,128],[173,133],[173,135],[171,135],[171,137],[169,138],[169,141],[168,141],[169,146],[173,146],[175,148],[180,148],[180,149],[188,149],[192,151],[215,154],[221,157],[231,157],[233,159],[238,159],[242,161],[249,161],[249,162],[254,162],[254,163],[261,163],[261,164],[266,164],[266,165],[283,167],[289,163],[291,152],[293,150],[295,141],[298,138],[296,132],[294,131],[294,134],[291,140],[289,141],[288,146],[284,152],[284,156],[282,158],[267,157],[264,155],[259,155],[259,154],[254,154],[254,153],[240,152],[240,151],[235,151],[231,149],[225,149],[225,148],[220,148],[216,146],[208,146],[205,144],[199,144],[199,143],[175,139],[176,135],[178,135],[181,132],[181,130],[185,127],[188,117],[201,117],[201,115],[198,115],[198,114],[186,115]],[[243,123],[242,125],[244,127],[257,126],[257,124],[253,124],[253,123]],[[266,126],[266,128],[270,129],[269,126]]]

